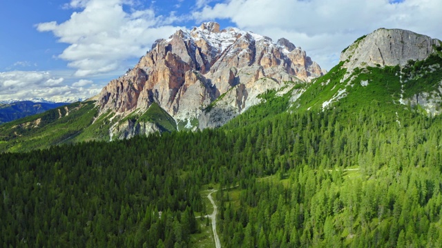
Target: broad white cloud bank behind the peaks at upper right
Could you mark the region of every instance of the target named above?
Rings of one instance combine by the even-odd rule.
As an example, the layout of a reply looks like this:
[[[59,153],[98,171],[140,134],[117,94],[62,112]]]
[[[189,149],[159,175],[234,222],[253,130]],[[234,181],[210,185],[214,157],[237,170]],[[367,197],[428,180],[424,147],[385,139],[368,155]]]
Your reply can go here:
[[[200,6],[196,21],[227,19],[272,39],[285,36],[326,69],[338,63],[343,48],[378,28],[442,38],[440,0],[229,0]]]

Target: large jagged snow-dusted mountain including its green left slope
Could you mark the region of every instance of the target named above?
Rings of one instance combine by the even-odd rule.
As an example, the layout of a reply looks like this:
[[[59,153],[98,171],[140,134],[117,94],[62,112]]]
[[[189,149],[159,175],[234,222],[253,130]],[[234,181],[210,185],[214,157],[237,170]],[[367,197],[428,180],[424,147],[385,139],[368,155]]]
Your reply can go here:
[[[97,96],[0,126],[0,148],[19,151],[219,127],[265,101],[262,93],[287,92],[323,73],[287,39],[275,43],[253,32],[202,23],[157,40],[134,68]]]

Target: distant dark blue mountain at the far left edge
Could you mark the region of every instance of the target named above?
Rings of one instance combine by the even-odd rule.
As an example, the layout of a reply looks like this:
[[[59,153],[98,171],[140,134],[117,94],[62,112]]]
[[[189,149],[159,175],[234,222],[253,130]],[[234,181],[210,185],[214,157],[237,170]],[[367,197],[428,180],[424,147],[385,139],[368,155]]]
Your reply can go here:
[[[17,101],[13,103],[0,103],[0,124],[14,121],[33,114],[40,114],[55,107],[68,105],[69,103],[48,103]]]

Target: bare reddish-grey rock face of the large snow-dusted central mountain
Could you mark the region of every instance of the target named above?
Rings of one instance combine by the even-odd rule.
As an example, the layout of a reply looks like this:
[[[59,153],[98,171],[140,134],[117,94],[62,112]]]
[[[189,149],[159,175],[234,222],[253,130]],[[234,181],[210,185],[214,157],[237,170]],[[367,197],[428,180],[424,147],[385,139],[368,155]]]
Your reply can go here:
[[[280,87],[284,81],[309,82],[322,74],[319,65],[287,39],[273,43],[269,37],[237,28],[220,30],[218,23],[209,22],[155,41],[133,69],[103,88],[97,106],[101,114],[111,110],[124,116],[135,110],[146,111],[157,103],[177,123],[189,122],[200,118],[215,99],[236,87],[228,98],[241,100],[231,104],[233,112],[226,117],[230,119],[257,103],[256,96],[265,90]],[[256,86],[263,78],[273,83]]]

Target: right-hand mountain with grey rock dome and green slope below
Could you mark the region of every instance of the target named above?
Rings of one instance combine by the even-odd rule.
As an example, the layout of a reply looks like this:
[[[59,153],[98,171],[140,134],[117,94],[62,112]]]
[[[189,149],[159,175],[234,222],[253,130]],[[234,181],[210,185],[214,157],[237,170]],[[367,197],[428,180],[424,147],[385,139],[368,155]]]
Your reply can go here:
[[[297,111],[343,104],[352,111],[378,105],[393,114],[440,114],[441,44],[407,30],[375,30],[345,48],[340,63],[305,87],[294,105]]]

